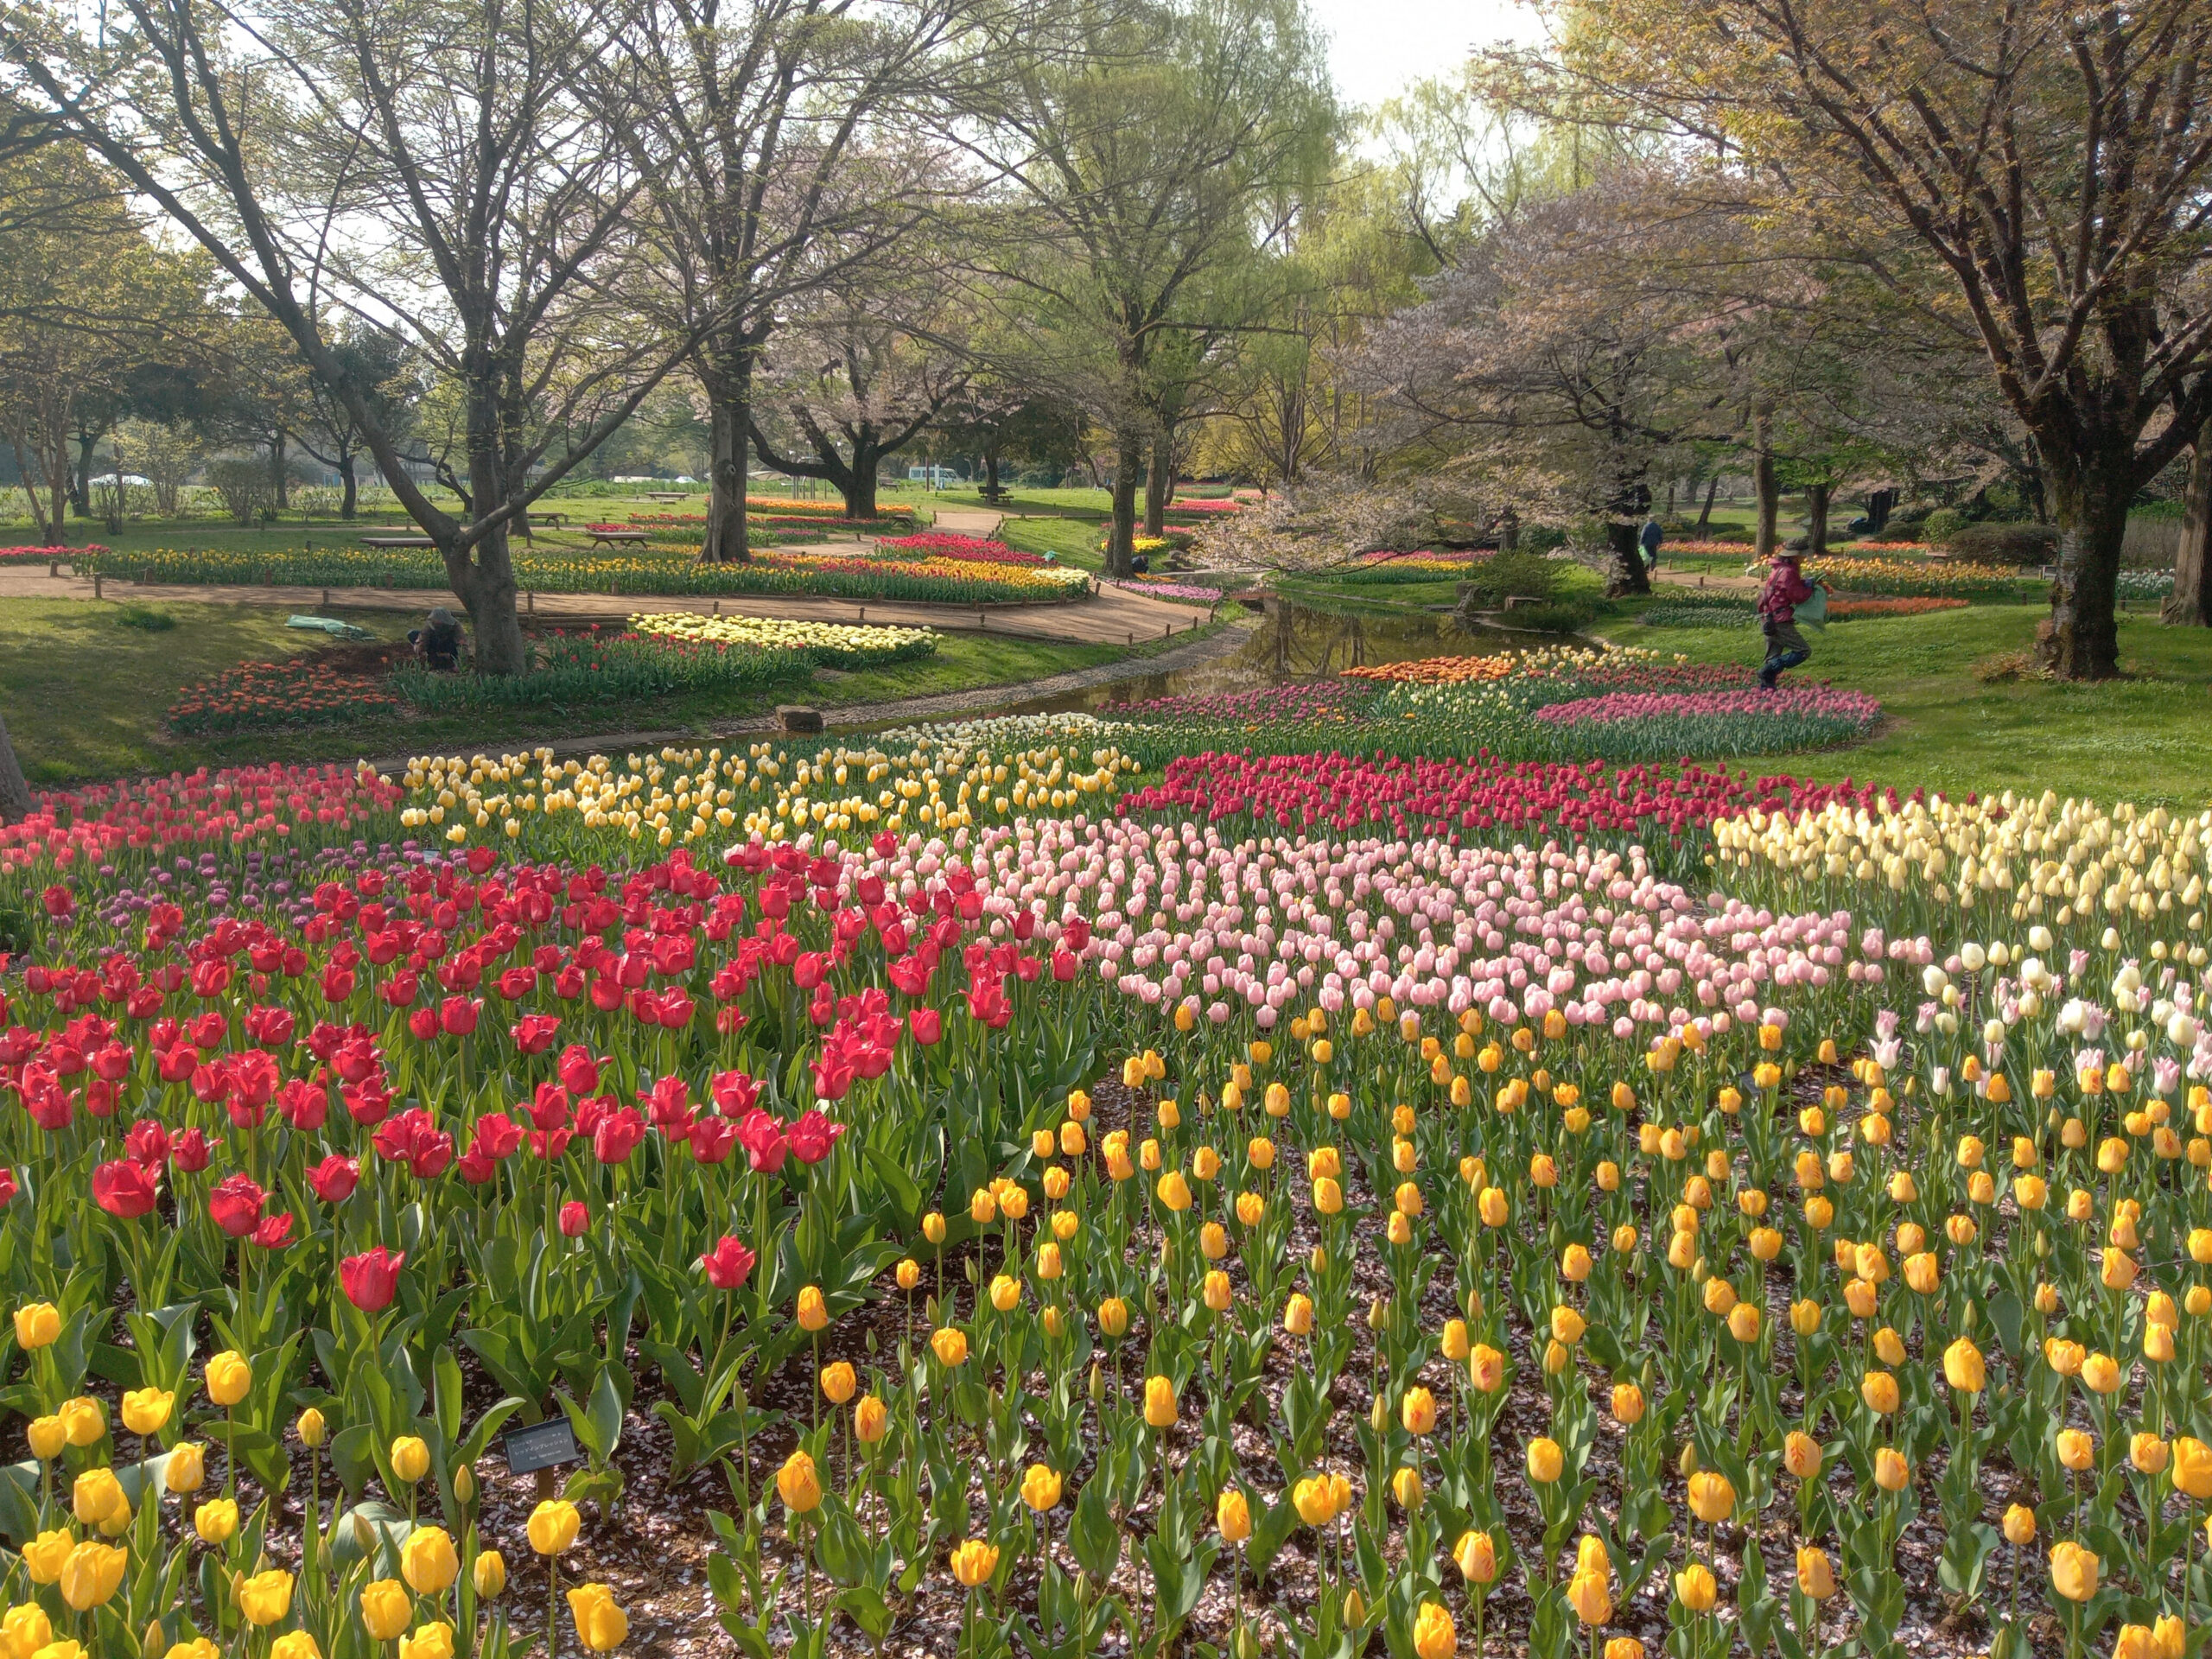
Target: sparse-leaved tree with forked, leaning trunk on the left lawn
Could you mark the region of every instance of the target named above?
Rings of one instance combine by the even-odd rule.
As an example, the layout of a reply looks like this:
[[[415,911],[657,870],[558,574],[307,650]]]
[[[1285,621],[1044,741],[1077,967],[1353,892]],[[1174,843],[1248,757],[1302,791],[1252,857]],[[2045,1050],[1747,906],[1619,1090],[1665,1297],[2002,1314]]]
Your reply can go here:
[[[511,524],[695,343],[613,314],[639,177],[606,144],[606,100],[582,97],[611,27],[593,0],[0,15],[4,91],[206,248],[345,405],[438,546],[482,672],[526,666]],[[456,389],[458,515],[349,380],[345,314],[403,327]]]

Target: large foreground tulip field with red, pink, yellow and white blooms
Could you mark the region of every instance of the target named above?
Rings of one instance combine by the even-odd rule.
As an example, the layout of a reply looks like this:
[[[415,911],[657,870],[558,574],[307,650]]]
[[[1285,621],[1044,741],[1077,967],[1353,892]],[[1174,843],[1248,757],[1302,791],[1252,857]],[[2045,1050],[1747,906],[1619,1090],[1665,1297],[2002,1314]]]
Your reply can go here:
[[[2194,1659],[2212,812],[1239,697],[40,796],[0,1655]]]

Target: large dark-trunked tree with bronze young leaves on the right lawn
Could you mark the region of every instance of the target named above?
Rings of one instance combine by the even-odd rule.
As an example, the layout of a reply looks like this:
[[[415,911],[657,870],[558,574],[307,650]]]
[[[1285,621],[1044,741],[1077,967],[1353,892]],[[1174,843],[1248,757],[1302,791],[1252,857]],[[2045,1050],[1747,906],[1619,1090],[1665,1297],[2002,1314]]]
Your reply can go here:
[[[2119,670],[2128,507],[2212,414],[2201,0],[1608,0],[1566,73],[1973,338],[2059,524],[2044,659]],[[1911,248],[1940,283],[1918,283]]]

